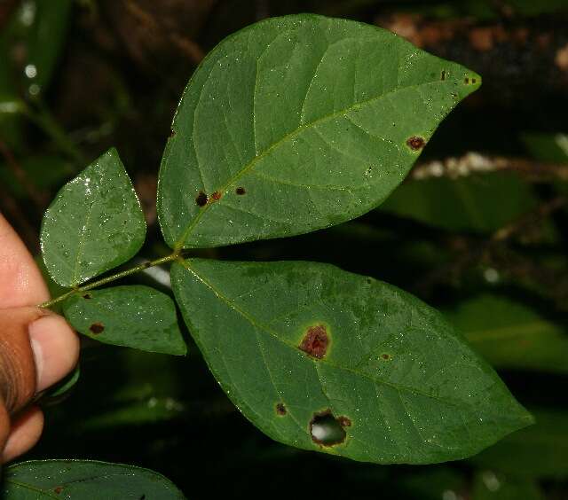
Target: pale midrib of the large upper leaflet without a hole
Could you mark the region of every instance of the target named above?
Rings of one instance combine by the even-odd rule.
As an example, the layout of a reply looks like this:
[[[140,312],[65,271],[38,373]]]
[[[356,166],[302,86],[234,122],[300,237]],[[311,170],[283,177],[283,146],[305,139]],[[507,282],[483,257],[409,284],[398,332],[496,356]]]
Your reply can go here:
[[[390,97],[392,95],[395,95],[397,92],[399,92],[401,90],[416,89],[416,88],[419,88],[419,87],[423,87],[423,86],[426,86],[426,85],[432,85],[432,84],[434,84],[434,85],[446,85],[446,82],[445,81],[433,80],[431,82],[422,82],[422,83],[416,83],[414,85],[406,85],[404,87],[397,87],[396,89],[390,90],[389,92],[381,94],[380,96],[368,98],[364,101],[360,101],[358,103],[354,103],[352,105],[349,105],[349,106],[347,106],[347,107],[345,107],[345,108],[343,108],[343,109],[341,109],[341,110],[339,110],[335,113],[327,114],[327,115],[322,116],[321,118],[318,118],[317,120],[310,121],[308,123],[304,123],[304,125],[300,125],[296,129],[294,129],[292,132],[289,132],[286,136],[281,137],[278,141],[272,143],[272,145],[267,147],[263,152],[254,156],[251,160],[248,161],[248,163],[243,168],[241,168],[241,170],[239,172],[237,172],[234,176],[231,176],[229,178],[229,180],[221,188],[219,188],[217,191],[220,191],[222,195],[225,194],[225,191],[229,188],[229,186],[231,186],[231,184],[234,184],[236,181],[238,181],[241,178],[241,176],[244,176],[245,174],[247,174],[250,169],[254,168],[256,163],[258,163],[260,160],[263,160],[264,157],[268,156],[272,151],[274,151],[275,149],[280,147],[280,145],[287,143],[288,140],[292,139],[293,137],[296,137],[301,132],[303,132],[305,129],[311,129],[312,127],[316,127],[320,123],[324,123],[326,121],[333,120],[334,118],[345,115],[347,113],[351,113],[351,111],[353,111],[355,109],[359,109],[359,108],[361,108],[365,105],[369,105],[370,103],[373,103],[375,101],[380,101],[383,98],[387,98],[387,97]],[[202,207],[200,212],[198,212],[197,215],[195,215],[195,217],[193,217],[193,220],[190,221],[190,223],[188,223],[185,226],[185,230],[183,230],[181,237],[177,239],[177,241],[174,245],[174,248],[176,250],[181,250],[181,248],[184,247],[185,241],[187,240],[187,238],[189,238],[189,236],[193,232],[193,229],[195,228],[195,226],[197,226],[197,224],[201,221],[201,218],[203,217],[203,215],[205,215],[208,212],[210,207],[212,207],[213,205],[217,205],[218,203],[222,203],[222,202],[223,202],[223,199],[219,200],[217,203],[207,204],[205,207]]]

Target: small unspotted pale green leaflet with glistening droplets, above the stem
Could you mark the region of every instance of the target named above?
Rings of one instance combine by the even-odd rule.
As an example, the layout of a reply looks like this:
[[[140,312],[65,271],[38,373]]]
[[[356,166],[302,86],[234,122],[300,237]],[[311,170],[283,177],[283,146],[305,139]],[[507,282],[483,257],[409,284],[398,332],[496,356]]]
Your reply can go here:
[[[111,149],[63,186],[43,215],[43,261],[59,285],[80,285],[128,261],[145,236],[140,202]]]

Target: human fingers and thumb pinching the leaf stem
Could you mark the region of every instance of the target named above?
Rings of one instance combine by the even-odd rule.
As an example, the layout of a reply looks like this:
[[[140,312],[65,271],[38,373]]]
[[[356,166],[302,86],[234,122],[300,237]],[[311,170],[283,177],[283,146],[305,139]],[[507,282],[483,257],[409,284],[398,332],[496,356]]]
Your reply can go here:
[[[28,249],[0,214],[0,462],[34,446],[43,413],[29,405],[75,367],[79,340],[61,316],[36,307],[50,298]]]

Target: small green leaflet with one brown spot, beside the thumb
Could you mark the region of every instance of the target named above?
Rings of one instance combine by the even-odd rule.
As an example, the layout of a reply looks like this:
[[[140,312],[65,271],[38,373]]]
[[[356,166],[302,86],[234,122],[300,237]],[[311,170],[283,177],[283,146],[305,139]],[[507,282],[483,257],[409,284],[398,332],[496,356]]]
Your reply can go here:
[[[91,339],[155,353],[185,355],[176,307],[168,295],[149,286],[115,286],[73,295],[63,313]]]

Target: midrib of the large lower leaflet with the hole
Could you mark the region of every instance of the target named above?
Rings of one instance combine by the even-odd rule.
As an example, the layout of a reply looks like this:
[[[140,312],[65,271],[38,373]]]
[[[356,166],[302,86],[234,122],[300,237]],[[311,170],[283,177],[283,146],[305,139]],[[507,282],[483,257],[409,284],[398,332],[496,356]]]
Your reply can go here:
[[[243,311],[242,309],[240,309],[235,303],[234,301],[232,301],[231,299],[229,299],[228,297],[226,297],[223,293],[221,293],[215,286],[213,286],[212,284],[209,283],[209,281],[207,279],[205,279],[204,277],[201,277],[201,275],[196,271],[193,270],[193,268],[191,267],[191,265],[185,261],[185,260],[179,260],[177,261],[185,270],[189,271],[190,273],[193,274],[194,277],[196,277],[199,281],[201,281],[201,283],[203,285],[206,285],[209,290],[211,290],[211,292],[215,293],[217,295],[217,297],[219,298],[219,300],[225,302],[225,304],[233,309],[234,311],[236,311],[237,313],[239,313],[241,316],[243,316],[248,323],[252,324],[253,326],[255,326],[256,328],[259,328],[261,330],[264,330],[265,332],[269,333],[275,340],[278,340],[281,344],[285,345],[287,348],[292,348],[295,351],[297,350],[297,347],[292,344],[291,342],[287,342],[286,340],[283,340],[280,338],[280,336],[278,335],[278,332],[272,330],[272,328],[270,328],[269,326],[265,325],[265,324],[260,324],[258,323],[255,318],[253,316],[250,316],[246,311]],[[312,361],[312,360],[311,360]],[[411,395],[423,395],[425,397],[429,397],[430,399],[439,401],[439,402],[444,402],[446,404],[449,404],[451,406],[454,407],[458,407],[459,406],[453,402],[453,401],[448,401],[444,398],[435,396],[435,395],[430,395],[429,393],[426,392],[422,392],[419,389],[415,389],[414,387],[406,387],[406,386],[400,386],[398,384],[395,384],[393,382],[389,382],[387,380],[384,379],[373,379],[371,376],[365,374],[365,373],[361,373],[359,371],[355,371],[349,367],[346,366],[340,366],[336,363],[333,363],[331,361],[329,361],[327,358],[323,358],[318,360],[317,362],[312,361],[312,363],[324,363],[327,364],[328,366],[331,366],[337,370],[343,370],[343,371],[349,371],[351,373],[353,373],[354,375],[358,376],[358,377],[362,377],[364,379],[368,379],[370,380],[372,383],[376,384],[376,383],[380,383],[383,384],[387,387],[391,387],[399,392],[407,392],[410,393]],[[467,405],[467,402],[462,402],[462,404]]]

